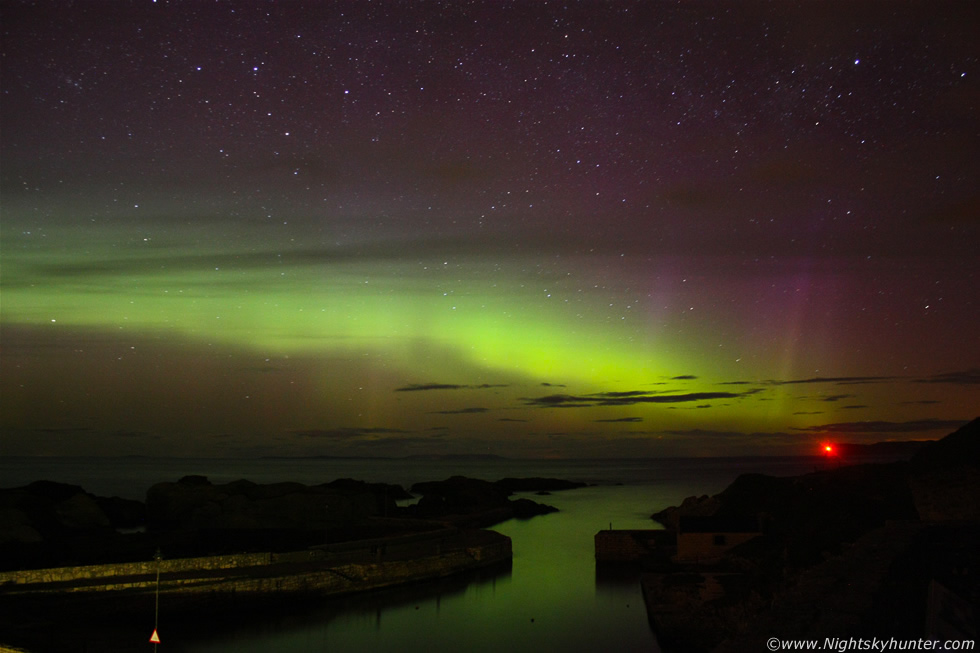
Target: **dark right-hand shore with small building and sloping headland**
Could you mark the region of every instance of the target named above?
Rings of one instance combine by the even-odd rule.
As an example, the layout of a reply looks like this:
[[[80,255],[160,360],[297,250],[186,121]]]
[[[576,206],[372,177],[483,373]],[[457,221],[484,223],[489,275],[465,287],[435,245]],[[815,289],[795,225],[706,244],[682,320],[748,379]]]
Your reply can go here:
[[[643,560],[651,623],[667,651],[975,640],[978,498],[980,419],[906,462],[743,475],[653,515],[672,539]]]

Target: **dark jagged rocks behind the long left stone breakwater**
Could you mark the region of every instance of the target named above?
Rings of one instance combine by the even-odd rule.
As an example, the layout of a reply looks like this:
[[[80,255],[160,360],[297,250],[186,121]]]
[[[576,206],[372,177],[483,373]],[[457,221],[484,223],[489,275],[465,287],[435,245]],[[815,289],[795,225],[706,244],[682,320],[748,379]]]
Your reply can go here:
[[[522,487],[545,486],[562,485],[535,479]],[[176,557],[284,552],[554,511],[528,499],[511,500],[509,488],[474,479],[419,488],[419,504],[403,508],[397,501],[414,497],[398,485],[352,479],[312,486],[214,484],[185,476],[151,487],[144,505],[39,481],[0,490],[0,571],[135,562],[151,559],[158,549]]]

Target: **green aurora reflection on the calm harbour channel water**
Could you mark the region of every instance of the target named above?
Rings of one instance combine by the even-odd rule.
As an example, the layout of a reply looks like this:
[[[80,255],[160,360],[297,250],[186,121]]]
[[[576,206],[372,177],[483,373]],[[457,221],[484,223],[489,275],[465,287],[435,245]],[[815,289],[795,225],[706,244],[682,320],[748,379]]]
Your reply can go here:
[[[221,632],[188,632],[197,641],[182,650],[657,651],[638,584],[597,585],[593,544],[611,519],[617,528],[652,527],[655,493],[651,486],[607,486],[532,497],[560,512],[495,527],[513,540],[510,571],[331,601]]]

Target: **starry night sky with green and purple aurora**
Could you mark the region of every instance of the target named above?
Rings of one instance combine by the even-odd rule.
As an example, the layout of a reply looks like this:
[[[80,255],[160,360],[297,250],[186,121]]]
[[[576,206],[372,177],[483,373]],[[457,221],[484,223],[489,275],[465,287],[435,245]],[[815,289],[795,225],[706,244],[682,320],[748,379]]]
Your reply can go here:
[[[941,437],[978,6],[4,0],[0,453]]]

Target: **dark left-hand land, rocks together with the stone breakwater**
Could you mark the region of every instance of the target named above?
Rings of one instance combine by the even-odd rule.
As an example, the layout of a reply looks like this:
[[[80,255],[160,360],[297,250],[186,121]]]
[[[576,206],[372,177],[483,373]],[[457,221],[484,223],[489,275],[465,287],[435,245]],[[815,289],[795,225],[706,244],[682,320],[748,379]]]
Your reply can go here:
[[[129,616],[146,629],[156,591],[171,615],[221,619],[509,567],[510,539],[482,529],[555,510],[512,493],[580,486],[453,477],[410,494],[349,479],[214,485],[189,476],[151,487],[145,503],[50,481],[0,490],[0,649],[138,641],[118,631]]]

